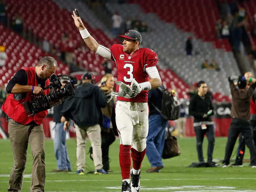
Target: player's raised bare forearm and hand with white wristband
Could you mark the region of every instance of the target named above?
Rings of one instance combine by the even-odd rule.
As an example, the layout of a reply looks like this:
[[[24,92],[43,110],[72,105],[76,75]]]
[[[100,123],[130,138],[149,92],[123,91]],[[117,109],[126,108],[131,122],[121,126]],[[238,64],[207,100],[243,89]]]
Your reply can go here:
[[[90,35],[90,33],[87,31],[87,29],[84,27],[82,19],[80,18],[80,15],[78,13],[78,10],[75,9],[73,11],[72,18],[74,19],[76,27],[79,29],[80,34],[82,35],[82,38],[88,48],[92,50],[93,52],[97,51],[97,48],[99,46],[98,42]]]

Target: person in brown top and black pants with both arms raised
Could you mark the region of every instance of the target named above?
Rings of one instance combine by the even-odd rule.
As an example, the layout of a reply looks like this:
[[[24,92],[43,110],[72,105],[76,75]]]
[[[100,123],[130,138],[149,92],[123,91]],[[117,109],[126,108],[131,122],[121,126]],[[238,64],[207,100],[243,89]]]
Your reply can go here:
[[[237,83],[234,80],[238,80]],[[252,83],[246,89],[247,82]],[[222,167],[229,166],[230,157],[239,134],[242,134],[245,143],[248,146],[251,154],[250,166],[256,167],[256,148],[253,142],[253,131],[250,127],[250,99],[256,87],[255,78],[245,78],[244,76],[230,76],[230,90],[232,95],[231,117],[233,117],[229,133],[227,136],[227,144],[225,150],[225,158],[222,161]],[[238,88],[236,88],[236,84]]]

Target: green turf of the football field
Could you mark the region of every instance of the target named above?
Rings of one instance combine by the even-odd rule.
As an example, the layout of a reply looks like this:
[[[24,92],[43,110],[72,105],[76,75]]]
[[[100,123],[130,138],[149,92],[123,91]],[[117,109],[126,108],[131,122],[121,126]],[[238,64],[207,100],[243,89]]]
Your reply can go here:
[[[214,159],[223,159],[227,138],[216,138],[214,148]],[[171,159],[163,160],[164,169],[160,173],[146,173],[150,168],[147,158],[142,163],[141,192],[143,191],[200,191],[200,192],[221,192],[221,191],[256,191],[256,169],[248,167],[249,163],[244,163],[244,167],[210,167],[210,168],[188,168],[192,162],[197,161],[195,138],[178,139],[181,148],[181,155]],[[8,175],[10,174],[13,157],[10,140],[0,140],[0,192],[7,191]],[[75,140],[67,140],[69,158],[73,172],[51,173],[56,168],[54,157],[53,141],[45,141],[46,154],[46,192],[77,192],[77,191],[121,191],[116,187],[121,185],[121,173],[118,162],[119,140],[117,139],[110,146],[110,168],[114,171],[108,175],[85,174],[77,175],[76,171],[76,147]],[[90,142],[87,141],[87,149]],[[204,157],[206,158],[207,139],[204,141]],[[236,148],[236,146],[235,146]],[[246,148],[245,159],[249,159],[249,150]],[[30,147],[27,155],[27,165],[23,182],[23,192],[29,192],[31,180],[32,157]],[[93,170],[93,162],[86,154],[86,167]],[[197,185],[205,187],[196,187]],[[187,186],[187,187],[181,187]],[[190,186],[190,187],[188,187]],[[207,187],[208,186],[208,187]],[[223,186],[213,188],[209,186]],[[108,187],[108,188],[106,188]],[[234,187],[234,188],[226,188]]]

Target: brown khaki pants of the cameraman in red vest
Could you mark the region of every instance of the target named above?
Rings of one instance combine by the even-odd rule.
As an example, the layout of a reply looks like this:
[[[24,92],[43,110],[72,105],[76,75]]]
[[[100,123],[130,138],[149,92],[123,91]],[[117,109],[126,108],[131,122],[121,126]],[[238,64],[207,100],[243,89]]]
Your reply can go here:
[[[33,155],[30,192],[44,191],[45,186],[45,152],[44,129],[41,125],[21,125],[12,119],[8,122],[8,132],[14,155],[14,165],[10,174],[9,192],[20,192],[23,172],[27,161],[27,144]]]

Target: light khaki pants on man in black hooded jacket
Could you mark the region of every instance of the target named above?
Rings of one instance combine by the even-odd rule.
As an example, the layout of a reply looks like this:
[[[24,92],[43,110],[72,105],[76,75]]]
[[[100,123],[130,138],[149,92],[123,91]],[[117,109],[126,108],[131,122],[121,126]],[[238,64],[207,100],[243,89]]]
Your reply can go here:
[[[86,134],[93,147],[93,163],[95,170],[102,169],[102,151],[101,151],[101,127],[99,124],[90,127],[79,127],[75,124],[76,128],[76,167],[77,170],[84,171],[85,165],[85,138]]]

